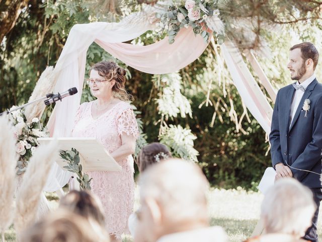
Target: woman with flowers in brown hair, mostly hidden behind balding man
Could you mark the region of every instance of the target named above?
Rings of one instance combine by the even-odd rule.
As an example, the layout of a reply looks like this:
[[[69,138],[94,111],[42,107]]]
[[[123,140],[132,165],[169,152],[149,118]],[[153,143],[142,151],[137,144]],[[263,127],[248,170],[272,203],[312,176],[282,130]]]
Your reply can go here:
[[[169,159],[171,157],[171,152],[169,151],[167,146],[158,142],[154,142],[144,146],[141,149],[136,163],[137,167],[139,168],[139,172],[141,173],[150,165]],[[135,236],[136,224],[136,214],[132,213],[128,219],[128,227],[133,237]]]

